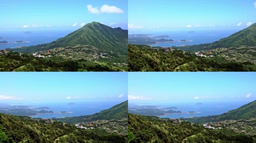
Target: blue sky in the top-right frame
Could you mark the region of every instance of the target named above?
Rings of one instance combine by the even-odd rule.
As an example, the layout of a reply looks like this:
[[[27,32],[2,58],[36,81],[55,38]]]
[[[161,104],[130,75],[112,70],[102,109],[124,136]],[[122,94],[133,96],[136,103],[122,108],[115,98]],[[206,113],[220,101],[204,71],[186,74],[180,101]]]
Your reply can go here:
[[[129,31],[243,29],[256,22],[256,0],[129,0]]]

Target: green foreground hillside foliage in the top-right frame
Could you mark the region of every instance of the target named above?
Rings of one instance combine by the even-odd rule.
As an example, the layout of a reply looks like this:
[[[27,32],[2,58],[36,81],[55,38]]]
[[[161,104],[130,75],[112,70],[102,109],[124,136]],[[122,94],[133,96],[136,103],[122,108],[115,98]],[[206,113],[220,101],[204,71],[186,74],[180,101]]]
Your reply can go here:
[[[256,65],[238,63],[221,56],[196,57],[177,49],[128,45],[128,71],[255,71]]]

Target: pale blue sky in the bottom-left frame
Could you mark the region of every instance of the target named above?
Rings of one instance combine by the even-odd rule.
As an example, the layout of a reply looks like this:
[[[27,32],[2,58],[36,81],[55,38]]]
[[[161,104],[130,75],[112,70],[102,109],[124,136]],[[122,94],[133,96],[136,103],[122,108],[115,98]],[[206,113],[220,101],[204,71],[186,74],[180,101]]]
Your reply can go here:
[[[3,72],[0,102],[126,101],[125,72]]]

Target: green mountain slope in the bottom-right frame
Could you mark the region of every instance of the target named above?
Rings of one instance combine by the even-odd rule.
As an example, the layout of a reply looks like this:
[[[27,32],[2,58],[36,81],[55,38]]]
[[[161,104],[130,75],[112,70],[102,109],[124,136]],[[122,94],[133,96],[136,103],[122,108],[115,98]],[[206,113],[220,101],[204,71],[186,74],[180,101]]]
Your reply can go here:
[[[218,122],[218,121],[224,121],[224,120],[248,120],[250,118],[256,118],[256,100],[246,105],[243,105],[237,109],[223,113],[221,115],[183,118],[183,119],[187,121],[195,122],[195,123],[209,123],[209,122]]]

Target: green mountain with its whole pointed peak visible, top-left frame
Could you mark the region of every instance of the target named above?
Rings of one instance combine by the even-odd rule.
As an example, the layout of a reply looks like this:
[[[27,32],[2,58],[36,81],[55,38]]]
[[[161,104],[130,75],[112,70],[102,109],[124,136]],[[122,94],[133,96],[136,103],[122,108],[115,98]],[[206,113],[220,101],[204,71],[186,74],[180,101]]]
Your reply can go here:
[[[15,48],[12,50],[23,53],[35,53],[37,51],[82,44],[91,45],[103,51],[127,54],[127,38],[128,30],[111,28],[99,22],[92,22],[49,44]]]

